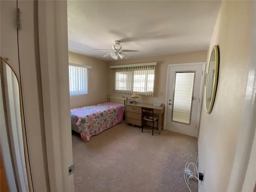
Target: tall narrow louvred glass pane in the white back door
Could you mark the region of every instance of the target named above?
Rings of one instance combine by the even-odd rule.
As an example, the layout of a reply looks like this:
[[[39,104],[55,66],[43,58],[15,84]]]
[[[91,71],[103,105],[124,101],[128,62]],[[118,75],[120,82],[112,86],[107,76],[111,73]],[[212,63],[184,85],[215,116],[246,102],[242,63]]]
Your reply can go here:
[[[176,72],[172,121],[190,124],[195,72]]]

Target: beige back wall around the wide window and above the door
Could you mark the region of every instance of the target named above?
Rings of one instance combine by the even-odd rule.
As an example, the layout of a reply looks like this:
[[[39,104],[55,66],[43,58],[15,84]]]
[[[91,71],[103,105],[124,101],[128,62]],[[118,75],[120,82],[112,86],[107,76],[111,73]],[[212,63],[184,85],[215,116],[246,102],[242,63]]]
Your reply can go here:
[[[157,65],[155,68],[153,97],[140,96],[140,98],[138,98],[138,102],[149,103],[149,104],[153,104],[154,102],[160,102],[164,104],[165,94],[166,94],[168,64],[205,62],[206,54],[207,54],[207,50],[194,51],[194,52],[186,52],[186,53],[179,53],[179,54],[146,57],[146,58],[136,58],[136,59],[129,59],[129,60],[117,60],[117,61],[108,62],[108,65],[112,66],[112,65],[157,62]],[[162,96],[160,95],[160,92],[163,92]],[[116,94],[112,91],[112,70],[110,68],[108,68],[108,93]],[[128,95],[128,94],[116,94],[116,95],[124,95],[128,99],[131,98],[131,95]]]

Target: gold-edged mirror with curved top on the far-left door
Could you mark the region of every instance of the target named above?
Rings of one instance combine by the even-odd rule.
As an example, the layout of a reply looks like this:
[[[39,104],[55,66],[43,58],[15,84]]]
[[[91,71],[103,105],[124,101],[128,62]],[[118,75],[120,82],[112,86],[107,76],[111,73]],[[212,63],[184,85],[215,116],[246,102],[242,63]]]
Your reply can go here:
[[[6,170],[8,188],[10,191],[30,191],[21,84],[14,68],[2,57],[0,84],[1,158]]]

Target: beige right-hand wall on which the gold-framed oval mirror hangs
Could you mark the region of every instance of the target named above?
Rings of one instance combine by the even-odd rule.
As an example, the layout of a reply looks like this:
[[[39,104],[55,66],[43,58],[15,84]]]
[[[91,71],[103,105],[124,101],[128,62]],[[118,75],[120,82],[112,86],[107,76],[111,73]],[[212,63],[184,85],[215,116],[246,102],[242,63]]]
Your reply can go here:
[[[246,94],[253,3],[222,1],[220,7],[208,49],[209,58],[212,46],[219,45],[220,69],[212,112],[203,107],[201,113],[198,156],[204,181],[199,191],[228,190]]]

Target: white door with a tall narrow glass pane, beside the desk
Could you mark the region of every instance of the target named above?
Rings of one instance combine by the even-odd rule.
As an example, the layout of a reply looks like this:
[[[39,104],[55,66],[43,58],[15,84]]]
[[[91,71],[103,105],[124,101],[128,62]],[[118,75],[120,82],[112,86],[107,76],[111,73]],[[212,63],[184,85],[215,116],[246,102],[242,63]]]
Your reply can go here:
[[[166,129],[198,136],[205,63],[168,66]]]

